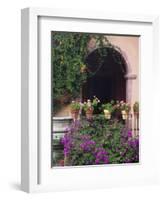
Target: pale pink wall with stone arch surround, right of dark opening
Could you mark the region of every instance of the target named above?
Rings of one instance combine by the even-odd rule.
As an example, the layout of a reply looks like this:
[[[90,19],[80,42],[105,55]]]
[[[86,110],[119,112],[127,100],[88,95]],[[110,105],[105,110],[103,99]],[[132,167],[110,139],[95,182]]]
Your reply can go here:
[[[129,45],[126,46],[126,45]],[[135,48],[135,54],[133,56],[133,53],[130,51],[133,50],[133,47]],[[88,43],[88,51],[89,54],[93,53],[99,48],[99,44],[96,41],[95,38],[92,38],[90,42]],[[115,49],[124,59],[126,63],[126,74],[124,75],[124,78],[126,80],[126,101],[130,104],[133,104],[135,101],[138,101],[139,99],[139,92],[136,84],[138,84],[138,46],[135,43],[135,40],[126,40],[124,43],[123,38],[114,36],[106,36],[106,44],[105,48],[113,48]],[[133,52],[133,51],[132,51]],[[88,55],[89,56],[89,55]],[[134,93],[133,93],[134,92]],[[136,93],[135,93],[136,92]]]

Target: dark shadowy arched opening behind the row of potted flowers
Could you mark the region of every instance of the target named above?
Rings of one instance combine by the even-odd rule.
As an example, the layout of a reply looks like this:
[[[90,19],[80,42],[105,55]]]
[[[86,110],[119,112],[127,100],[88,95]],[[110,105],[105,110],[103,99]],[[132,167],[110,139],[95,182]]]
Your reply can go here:
[[[127,66],[121,53],[112,47],[99,48],[87,58],[88,79],[82,89],[82,98],[97,96],[101,103],[126,100]]]

